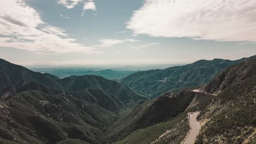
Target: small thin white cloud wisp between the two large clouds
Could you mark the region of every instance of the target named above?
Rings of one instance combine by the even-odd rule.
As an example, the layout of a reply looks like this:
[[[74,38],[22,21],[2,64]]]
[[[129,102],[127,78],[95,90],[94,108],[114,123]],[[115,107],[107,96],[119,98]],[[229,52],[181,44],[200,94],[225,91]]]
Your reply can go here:
[[[140,40],[136,39],[100,39],[100,45],[94,45],[96,47],[112,47],[114,45],[118,44],[124,44],[124,43],[136,43]]]

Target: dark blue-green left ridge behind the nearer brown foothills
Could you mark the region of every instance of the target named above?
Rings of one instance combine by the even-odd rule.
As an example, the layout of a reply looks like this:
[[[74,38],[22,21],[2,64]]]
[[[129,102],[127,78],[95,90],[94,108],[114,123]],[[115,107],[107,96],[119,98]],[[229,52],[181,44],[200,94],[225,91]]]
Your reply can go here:
[[[123,109],[138,100],[147,99],[132,89],[101,76],[70,76],[59,79],[57,76],[36,73],[3,59],[0,59],[0,78],[2,89],[15,89],[15,92],[1,91],[1,98],[8,98],[28,90],[38,90],[52,95],[66,92],[111,111]]]

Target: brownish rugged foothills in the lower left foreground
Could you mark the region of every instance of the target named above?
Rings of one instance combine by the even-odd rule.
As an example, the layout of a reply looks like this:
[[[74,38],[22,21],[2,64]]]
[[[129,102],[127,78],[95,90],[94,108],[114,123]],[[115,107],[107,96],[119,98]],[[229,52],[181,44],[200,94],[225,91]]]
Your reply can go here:
[[[16,94],[0,103],[0,109],[0,143],[101,143],[97,136],[115,119],[111,112],[71,95],[39,91]]]

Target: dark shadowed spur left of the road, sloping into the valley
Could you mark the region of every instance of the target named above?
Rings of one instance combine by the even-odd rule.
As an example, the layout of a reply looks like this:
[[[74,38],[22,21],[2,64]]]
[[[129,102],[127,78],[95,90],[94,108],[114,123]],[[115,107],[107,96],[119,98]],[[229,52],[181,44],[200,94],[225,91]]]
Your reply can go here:
[[[191,91],[165,93],[152,101],[146,101],[143,104],[133,106],[132,109],[126,112],[125,115],[118,119],[118,121],[110,125],[105,136],[103,136],[103,139],[105,140],[104,142],[120,141],[130,135],[133,131],[154,127],[154,125],[160,123],[172,123],[170,121],[179,115],[184,119],[185,115],[187,115],[187,113],[184,112],[187,109],[196,107],[197,110],[201,110],[210,104],[212,99],[213,95]],[[172,124],[177,123],[178,121]],[[167,129],[168,127],[166,126],[166,128],[162,130]],[[152,133],[155,132],[152,131]],[[155,137],[151,137],[150,139],[156,139],[160,135],[161,133],[159,132],[155,133]],[[135,139],[133,136],[130,139]],[[147,135],[144,136],[147,137]],[[144,139],[146,137],[139,137],[138,139]],[[129,141],[129,139],[125,141]],[[148,143],[150,142],[152,141],[149,141]]]

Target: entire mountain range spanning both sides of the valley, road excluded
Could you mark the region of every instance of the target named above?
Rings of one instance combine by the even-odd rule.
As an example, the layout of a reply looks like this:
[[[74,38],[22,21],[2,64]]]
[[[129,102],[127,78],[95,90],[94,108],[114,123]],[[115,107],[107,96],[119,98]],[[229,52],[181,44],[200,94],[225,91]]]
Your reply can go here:
[[[121,84],[135,77],[149,82],[136,91]],[[94,75],[60,79],[0,59],[0,143],[182,143],[188,113],[196,111],[196,143],[256,142],[256,58],[201,60],[121,83]],[[150,95],[148,87],[160,89]]]

